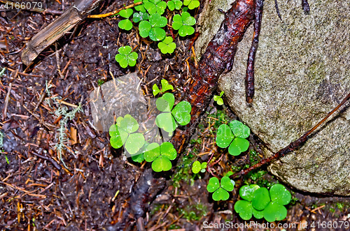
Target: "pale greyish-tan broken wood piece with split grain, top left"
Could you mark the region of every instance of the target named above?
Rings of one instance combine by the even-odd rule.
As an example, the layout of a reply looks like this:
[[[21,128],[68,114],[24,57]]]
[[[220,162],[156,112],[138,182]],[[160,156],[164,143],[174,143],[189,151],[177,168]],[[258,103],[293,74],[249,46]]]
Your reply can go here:
[[[87,15],[99,6],[102,0],[77,0],[61,16],[51,22],[48,27],[38,32],[25,47],[22,52],[22,62],[30,65],[38,54],[46,47],[54,43],[57,39],[64,36],[65,33],[73,29],[79,22],[84,20]]]

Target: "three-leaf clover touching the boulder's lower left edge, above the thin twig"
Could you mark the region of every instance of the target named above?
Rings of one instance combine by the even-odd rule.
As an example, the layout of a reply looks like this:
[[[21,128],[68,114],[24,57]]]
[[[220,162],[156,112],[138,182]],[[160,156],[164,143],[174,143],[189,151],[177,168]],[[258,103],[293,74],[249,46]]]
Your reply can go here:
[[[216,135],[216,144],[221,148],[228,148],[228,153],[232,156],[238,156],[241,152],[248,150],[249,142],[245,138],[251,133],[248,126],[240,121],[233,120],[230,126],[221,124]]]

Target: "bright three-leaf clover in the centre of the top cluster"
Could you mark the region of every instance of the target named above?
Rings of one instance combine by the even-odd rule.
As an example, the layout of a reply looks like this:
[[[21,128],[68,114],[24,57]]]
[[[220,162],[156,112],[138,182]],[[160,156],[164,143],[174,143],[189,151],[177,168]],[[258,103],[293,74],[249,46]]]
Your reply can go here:
[[[165,30],[161,27],[167,25],[167,18],[155,13],[149,17],[149,22],[142,20],[139,24],[139,33],[142,38],[149,36],[153,41],[160,41],[165,38]]]

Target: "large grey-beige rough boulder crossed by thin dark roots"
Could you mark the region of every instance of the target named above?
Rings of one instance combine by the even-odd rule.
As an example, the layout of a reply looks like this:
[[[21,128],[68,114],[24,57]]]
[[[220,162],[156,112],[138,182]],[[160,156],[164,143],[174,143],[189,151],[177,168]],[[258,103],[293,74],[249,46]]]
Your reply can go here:
[[[204,7],[197,54],[218,31],[230,2]],[[350,1],[266,0],[255,60],[255,98],[245,102],[244,76],[253,27],[239,43],[235,64],[221,76],[230,107],[267,144],[265,155],[286,147],[318,123],[350,91]],[[220,92],[220,91],[219,91]],[[350,195],[350,103],[328,120],[299,150],[269,166],[282,181],[302,191]]]

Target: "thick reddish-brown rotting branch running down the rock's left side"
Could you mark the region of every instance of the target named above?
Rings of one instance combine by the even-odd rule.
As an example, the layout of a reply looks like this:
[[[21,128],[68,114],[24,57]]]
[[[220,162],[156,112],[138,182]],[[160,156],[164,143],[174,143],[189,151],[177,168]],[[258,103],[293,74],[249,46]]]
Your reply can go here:
[[[186,147],[200,121],[201,114],[209,105],[216,90],[218,78],[225,70],[232,69],[237,44],[253,22],[254,2],[253,0],[237,0],[232,3],[232,8],[225,13],[225,20],[221,23],[218,33],[202,55],[184,98],[192,105],[190,124],[184,131],[176,130],[172,138],[172,143],[178,153],[181,153]]]

